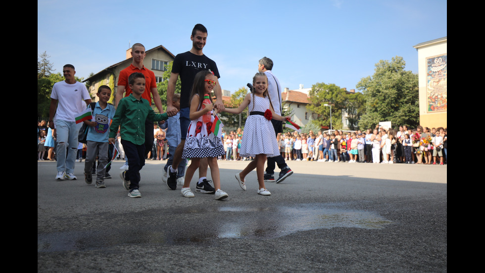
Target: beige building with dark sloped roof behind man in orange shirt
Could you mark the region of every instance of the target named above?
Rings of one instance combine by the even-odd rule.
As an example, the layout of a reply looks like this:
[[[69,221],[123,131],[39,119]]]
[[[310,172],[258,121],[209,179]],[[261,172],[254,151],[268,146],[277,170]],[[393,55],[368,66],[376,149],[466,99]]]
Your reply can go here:
[[[170,61],[173,61],[174,55],[169,52],[163,46],[158,46],[146,51],[146,57],[143,61],[143,65],[153,71],[155,74],[155,80],[157,83],[163,81],[163,72],[165,71],[165,65]],[[89,93],[93,98],[93,102],[97,102],[99,99],[96,96],[97,89],[101,85],[107,85],[111,88],[111,99],[109,102],[113,101],[114,94],[116,93],[116,88],[118,86],[118,77],[120,71],[130,66],[132,63],[131,48],[126,51],[126,58],[118,63],[104,68],[103,70],[97,72],[93,76],[84,80],[84,82],[90,82]]]

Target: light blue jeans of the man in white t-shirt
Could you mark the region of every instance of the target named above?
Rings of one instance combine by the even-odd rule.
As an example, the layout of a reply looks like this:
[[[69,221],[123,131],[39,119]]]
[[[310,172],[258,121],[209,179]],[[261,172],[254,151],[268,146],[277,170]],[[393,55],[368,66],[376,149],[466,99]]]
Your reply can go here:
[[[76,163],[76,154],[78,151],[78,133],[82,124],[76,124],[75,121],[55,120],[55,131],[57,134],[57,171],[67,173],[74,172]],[[67,153],[69,148],[69,153]]]

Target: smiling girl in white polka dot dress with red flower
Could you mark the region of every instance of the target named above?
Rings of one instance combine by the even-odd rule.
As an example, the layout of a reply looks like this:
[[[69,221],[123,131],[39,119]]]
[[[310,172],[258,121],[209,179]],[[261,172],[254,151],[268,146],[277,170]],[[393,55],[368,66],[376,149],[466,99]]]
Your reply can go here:
[[[275,113],[268,97],[268,78],[264,73],[256,73],[252,79],[253,90],[247,94],[242,104],[235,109],[226,108],[226,112],[239,114],[246,107],[249,109],[249,116],[244,124],[244,134],[242,134],[241,157],[254,157],[240,173],[236,174],[236,179],[243,190],[246,190],[245,177],[256,168],[258,177],[258,194],[271,195],[264,186],[264,164],[267,157],[280,155],[278,143],[275,138],[275,129],[271,123],[271,118],[286,121],[290,116],[280,116]]]

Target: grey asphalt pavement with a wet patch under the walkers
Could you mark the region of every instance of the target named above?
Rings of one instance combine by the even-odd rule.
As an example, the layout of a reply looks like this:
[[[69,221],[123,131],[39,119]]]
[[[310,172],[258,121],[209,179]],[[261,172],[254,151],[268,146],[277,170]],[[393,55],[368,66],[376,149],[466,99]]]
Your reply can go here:
[[[246,191],[234,177],[248,162],[219,161],[229,197],[214,200],[169,190],[165,163],[129,198],[122,161],[104,189],[84,162],[71,181],[38,162],[38,272],[447,272],[447,165],[292,161],[261,196],[255,171]]]

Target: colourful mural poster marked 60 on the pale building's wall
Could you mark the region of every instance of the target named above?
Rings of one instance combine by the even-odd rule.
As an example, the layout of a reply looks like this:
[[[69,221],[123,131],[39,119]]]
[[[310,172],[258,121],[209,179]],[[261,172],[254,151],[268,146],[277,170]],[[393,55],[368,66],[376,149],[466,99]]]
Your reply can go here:
[[[446,111],[448,67],[447,54],[426,58],[428,112]]]

